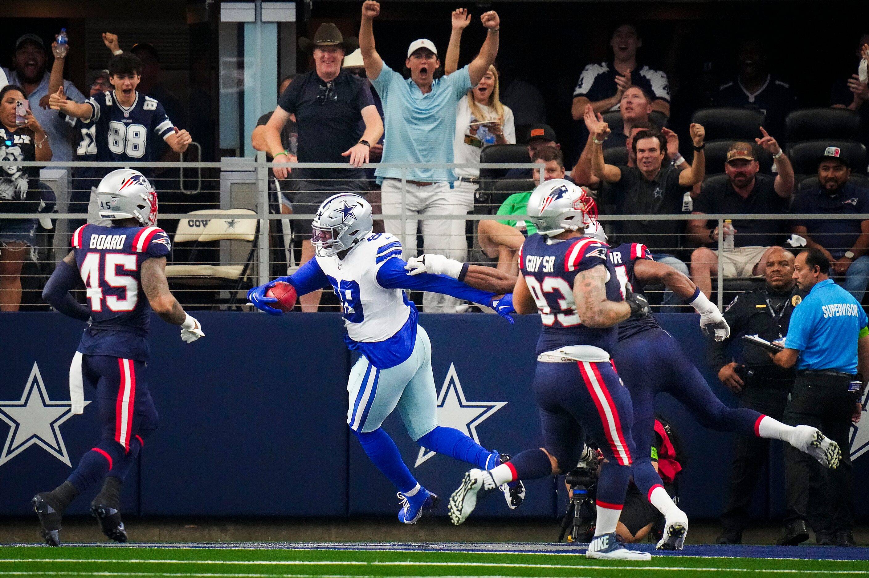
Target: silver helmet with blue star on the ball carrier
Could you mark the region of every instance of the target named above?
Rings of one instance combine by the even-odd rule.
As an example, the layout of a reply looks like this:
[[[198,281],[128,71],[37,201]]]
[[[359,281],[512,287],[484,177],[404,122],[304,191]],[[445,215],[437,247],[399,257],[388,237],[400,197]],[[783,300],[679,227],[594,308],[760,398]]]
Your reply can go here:
[[[367,200],[358,194],[333,194],[317,209],[311,245],[318,257],[331,257],[354,246],[373,228]]]

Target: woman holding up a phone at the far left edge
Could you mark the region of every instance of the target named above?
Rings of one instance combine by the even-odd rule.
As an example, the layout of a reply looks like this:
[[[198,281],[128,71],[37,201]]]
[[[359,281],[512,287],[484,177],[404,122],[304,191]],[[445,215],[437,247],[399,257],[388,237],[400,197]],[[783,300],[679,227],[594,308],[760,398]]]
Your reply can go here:
[[[26,104],[23,89],[0,89],[0,161],[50,161],[48,135]],[[0,213],[36,213],[39,167],[0,167]],[[0,219],[0,312],[21,305],[21,267],[36,243],[36,219]]]

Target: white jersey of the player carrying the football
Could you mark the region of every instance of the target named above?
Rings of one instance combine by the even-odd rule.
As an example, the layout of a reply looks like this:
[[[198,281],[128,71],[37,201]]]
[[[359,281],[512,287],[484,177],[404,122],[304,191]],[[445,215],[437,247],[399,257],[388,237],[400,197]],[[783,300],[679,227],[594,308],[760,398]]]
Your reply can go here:
[[[377,284],[377,271],[395,257],[401,257],[401,243],[388,233],[368,235],[344,259],[315,257],[341,299],[344,327],[354,341],[384,341],[408,321],[404,291]]]

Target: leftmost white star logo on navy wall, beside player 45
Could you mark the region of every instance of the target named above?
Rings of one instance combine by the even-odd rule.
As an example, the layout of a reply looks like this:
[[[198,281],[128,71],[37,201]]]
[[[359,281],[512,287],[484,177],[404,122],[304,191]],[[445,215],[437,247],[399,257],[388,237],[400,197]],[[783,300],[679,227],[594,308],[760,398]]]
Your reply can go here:
[[[0,465],[36,444],[71,467],[60,424],[72,416],[72,402],[49,399],[39,366],[34,362],[21,399],[0,401],[0,419],[10,425],[3,453],[0,453]]]

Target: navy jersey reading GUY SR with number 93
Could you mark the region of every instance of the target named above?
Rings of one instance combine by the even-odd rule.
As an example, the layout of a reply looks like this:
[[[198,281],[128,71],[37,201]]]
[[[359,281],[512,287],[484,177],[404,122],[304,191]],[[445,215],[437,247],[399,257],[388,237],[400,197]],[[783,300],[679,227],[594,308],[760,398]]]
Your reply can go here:
[[[607,259],[607,245],[590,237],[552,244],[538,233],[529,235],[519,252],[521,275],[541,312],[543,329],[537,353],[565,345],[595,345],[612,353],[618,329],[582,325],[574,302],[574,278],[594,266],[607,268],[607,299],[624,300],[615,270]]]

